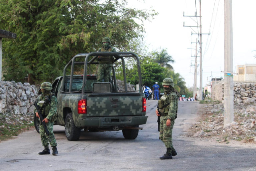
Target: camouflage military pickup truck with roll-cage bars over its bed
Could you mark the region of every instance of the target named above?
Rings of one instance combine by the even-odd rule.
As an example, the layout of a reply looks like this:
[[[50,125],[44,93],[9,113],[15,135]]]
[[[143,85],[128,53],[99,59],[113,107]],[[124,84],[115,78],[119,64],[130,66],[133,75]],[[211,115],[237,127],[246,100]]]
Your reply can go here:
[[[98,56],[114,56],[111,82],[97,83]],[[125,62],[137,65],[137,87],[128,90]],[[117,85],[116,72],[123,85]],[[74,75],[79,73],[80,75]],[[126,139],[138,136],[145,124],[146,99],[143,93],[140,62],[132,52],[92,52],[78,54],[65,66],[63,76],[53,82],[56,95],[57,125],[65,126],[68,140],[78,140],[84,131],[119,131]],[[35,124],[38,130],[38,124]]]

